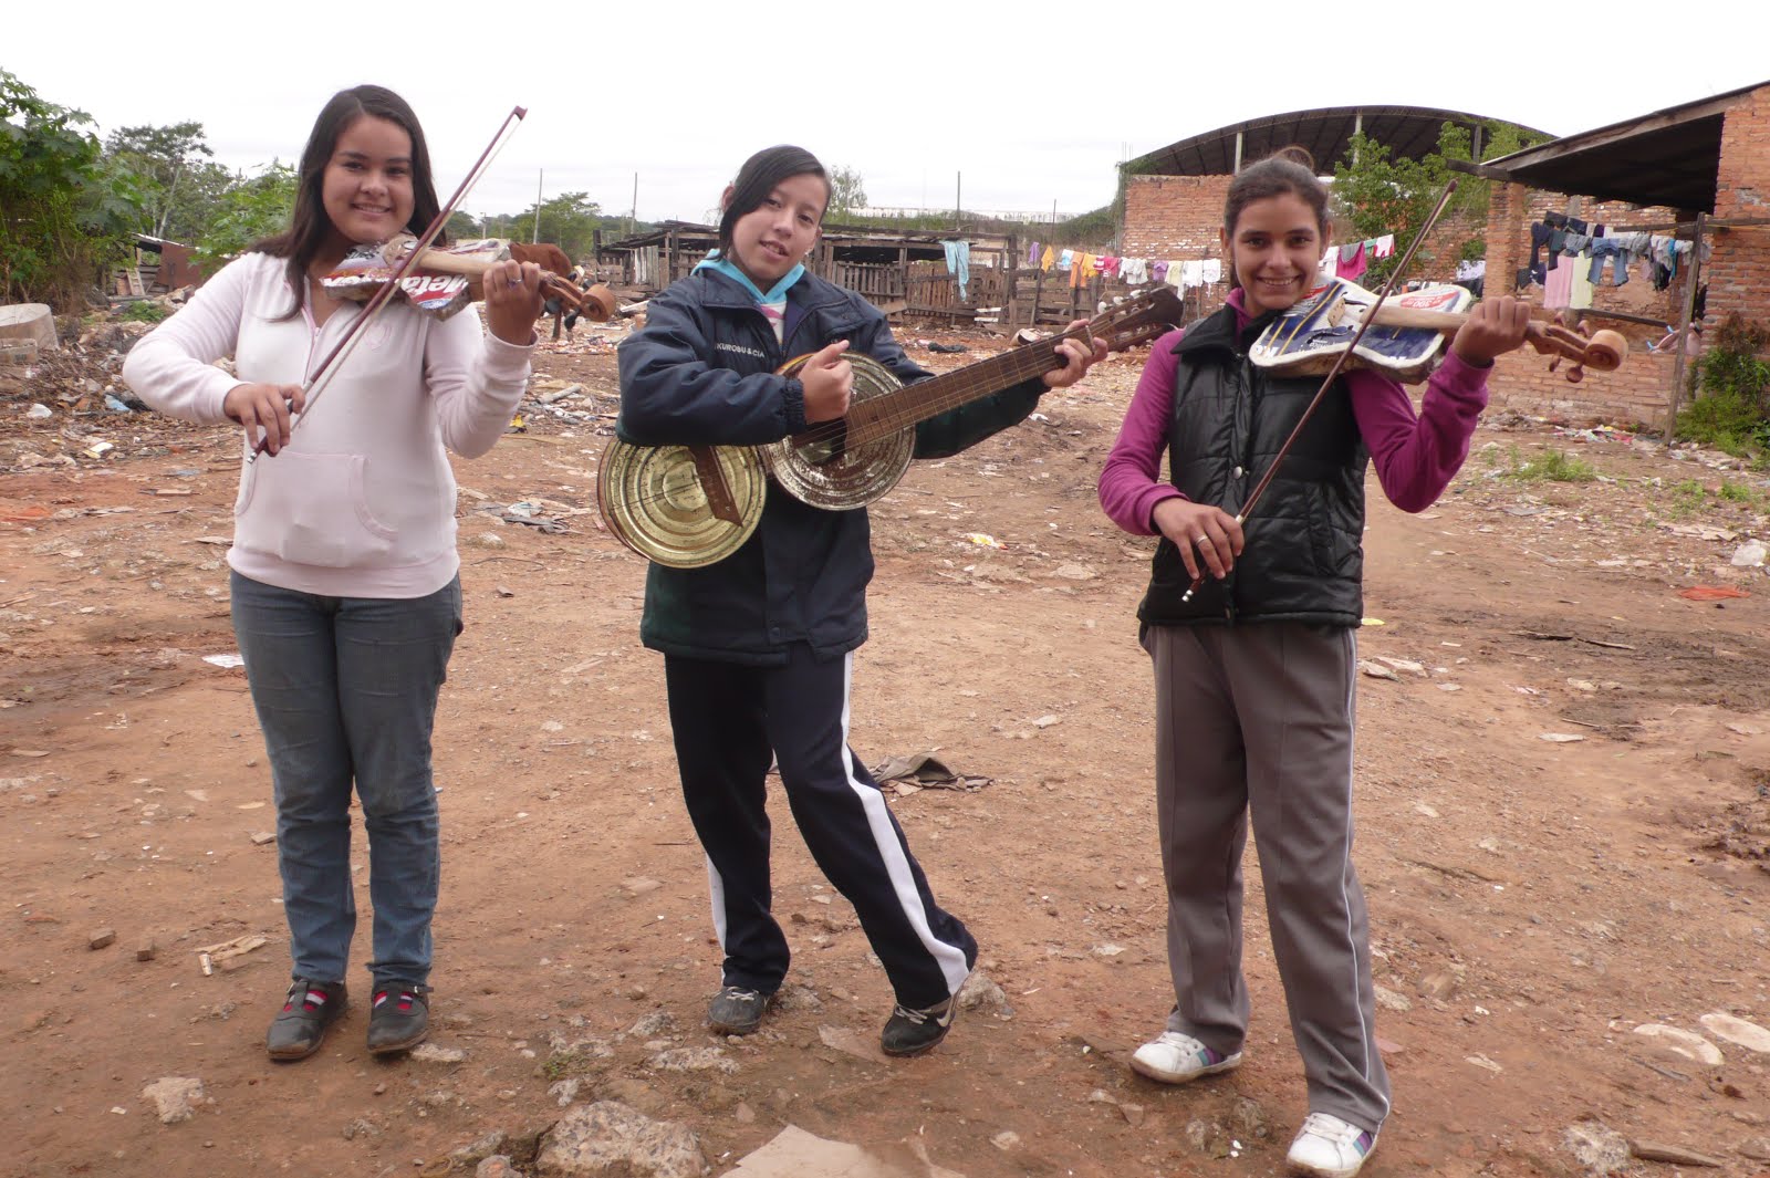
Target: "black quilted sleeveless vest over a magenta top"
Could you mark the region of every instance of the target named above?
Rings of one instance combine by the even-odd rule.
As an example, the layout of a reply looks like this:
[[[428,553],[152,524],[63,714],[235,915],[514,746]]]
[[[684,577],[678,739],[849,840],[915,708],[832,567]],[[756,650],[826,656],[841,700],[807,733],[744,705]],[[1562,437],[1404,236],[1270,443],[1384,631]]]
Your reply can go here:
[[[1248,363],[1248,345],[1266,322],[1237,338],[1235,311],[1225,306],[1175,347],[1168,470],[1188,499],[1230,515],[1241,511],[1320,387],[1320,377],[1273,377]],[[1244,522],[1248,545],[1235,571],[1225,580],[1205,577],[1193,600],[1181,601],[1191,577],[1174,541],[1163,538],[1138,619],[1145,626],[1358,626],[1368,462],[1345,382],[1336,380]]]

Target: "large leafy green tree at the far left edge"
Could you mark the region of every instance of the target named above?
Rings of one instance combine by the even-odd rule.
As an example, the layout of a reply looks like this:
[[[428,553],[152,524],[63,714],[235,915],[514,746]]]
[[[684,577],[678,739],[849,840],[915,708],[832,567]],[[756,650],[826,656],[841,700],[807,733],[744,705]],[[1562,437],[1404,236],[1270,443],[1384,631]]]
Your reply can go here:
[[[0,69],[0,302],[81,308],[127,256],[136,193],[90,124]]]

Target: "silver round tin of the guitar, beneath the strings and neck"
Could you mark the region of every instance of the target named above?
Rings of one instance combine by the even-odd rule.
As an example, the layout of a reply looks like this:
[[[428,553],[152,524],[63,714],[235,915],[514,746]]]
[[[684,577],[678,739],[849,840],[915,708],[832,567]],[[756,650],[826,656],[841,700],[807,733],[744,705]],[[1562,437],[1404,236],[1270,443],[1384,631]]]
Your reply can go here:
[[[782,377],[796,373],[805,359],[800,356],[781,370]],[[855,368],[851,405],[903,387],[885,364],[871,356],[846,357]],[[839,439],[834,423],[820,421],[796,437],[759,446],[768,474],[795,499],[827,511],[851,511],[880,499],[915,456],[915,426],[904,426],[887,437],[843,449],[835,456],[818,451],[816,439]]]

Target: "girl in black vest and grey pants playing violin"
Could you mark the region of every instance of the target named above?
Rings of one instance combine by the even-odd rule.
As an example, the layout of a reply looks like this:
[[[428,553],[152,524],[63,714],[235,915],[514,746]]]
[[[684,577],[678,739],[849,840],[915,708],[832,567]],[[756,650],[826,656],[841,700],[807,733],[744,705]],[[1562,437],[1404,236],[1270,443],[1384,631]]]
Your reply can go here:
[[[1375,460],[1382,492],[1404,511],[1430,506],[1469,453],[1487,370],[1524,341],[1528,308],[1478,304],[1418,416],[1384,375],[1338,377],[1243,529],[1235,513],[1320,384],[1248,363],[1260,329],[1315,285],[1328,248],[1328,189],[1296,156],[1264,159],[1230,184],[1221,242],[1235,290],[1150,350],[1099,497],[1119,527],[1161,536],[1138,621],[1156,672],[1175,1006],[1131,1067],[1184,1084],[1241,1065],[1241,860],[1251,814],[1308,1079],[1310,1113],[1289,1164],[1349,1178],[1389,1113],[1351,854],[1365,465]],[[1200,575],[1205,585],[1186,601]]]

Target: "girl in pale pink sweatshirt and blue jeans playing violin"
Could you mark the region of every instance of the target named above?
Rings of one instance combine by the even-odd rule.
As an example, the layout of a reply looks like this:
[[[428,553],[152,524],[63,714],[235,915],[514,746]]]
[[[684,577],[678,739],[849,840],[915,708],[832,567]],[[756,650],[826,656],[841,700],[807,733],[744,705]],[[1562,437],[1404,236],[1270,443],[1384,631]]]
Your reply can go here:
[[[335,94],[301,154],[289,230],[223,267],[124,364],[156,409],[235,421],[248,458],[266,451],[241,472],[228,566],[294,959],[266,1038],[274,1059],[319,1051],[345,1008],[352,785],[375,909],[368,1049],[405,1051],[428,1028],[441,874],[430,731],[462,630],[444,447],[483,455],[510,423],[527,386],[540,272],[501,262],[485,276],[490,334],[474,315],[435,320],[388,304],[299,430],[294,416],[313,357],[363,315],[320,276],[352,246],[423,233],[437,207],[411,106],[372,85]],[[237,377],[212,364],[223,356]]]

